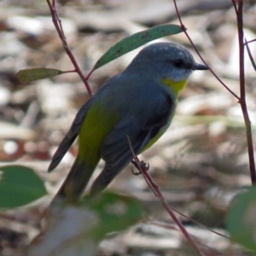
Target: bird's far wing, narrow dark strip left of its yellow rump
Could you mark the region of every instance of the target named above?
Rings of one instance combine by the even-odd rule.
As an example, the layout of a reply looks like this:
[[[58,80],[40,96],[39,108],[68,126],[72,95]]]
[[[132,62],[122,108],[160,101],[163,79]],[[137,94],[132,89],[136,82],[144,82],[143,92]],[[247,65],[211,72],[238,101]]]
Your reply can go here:
[[[53,158],[49,164],[48,172],[51,172],[59,165],[63,156],[67,153],[68,148],[72,145],[74,140],[79,134],[80,127],[83,123],[84,117],[90,108],[90,101],[85,103],[82,108],[79,109],[73,124],[71,125],[69,131],[67,131],[66,136],[62,139],[60,146],[57,148]]]

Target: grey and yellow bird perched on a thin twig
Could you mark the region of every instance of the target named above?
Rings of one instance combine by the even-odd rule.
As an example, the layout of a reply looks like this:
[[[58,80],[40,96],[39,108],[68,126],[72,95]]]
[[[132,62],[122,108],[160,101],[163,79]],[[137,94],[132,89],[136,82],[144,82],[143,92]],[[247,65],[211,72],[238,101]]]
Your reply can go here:
[[[76,114],[49,164],[51,172],[78,137],[77,157],[55,197],[79,201],[101,159],[105,166],[92,183],[90,195],[106,189],[133,154],[141,154],[165,133],[190,74],[207,69],[182,45],[160,42],[144,47]]]

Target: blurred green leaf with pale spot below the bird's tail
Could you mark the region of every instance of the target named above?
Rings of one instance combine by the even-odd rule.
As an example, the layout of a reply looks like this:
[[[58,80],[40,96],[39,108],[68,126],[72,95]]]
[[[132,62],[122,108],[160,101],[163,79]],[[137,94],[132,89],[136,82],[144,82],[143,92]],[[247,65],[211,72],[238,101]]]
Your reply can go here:
[[[124,195],[101,193],[85,197],[82,204],[95,211],[99,220],[88,235],[95,241],[102,240],[109,232],[125,230],[143,216],[140,202]]]

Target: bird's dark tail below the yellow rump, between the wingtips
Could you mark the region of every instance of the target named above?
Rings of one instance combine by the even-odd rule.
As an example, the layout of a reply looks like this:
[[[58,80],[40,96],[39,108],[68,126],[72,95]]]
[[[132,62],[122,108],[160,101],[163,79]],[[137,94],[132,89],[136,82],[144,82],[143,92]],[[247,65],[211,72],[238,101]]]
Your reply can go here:
[[[86,165],[84,161],[77,158],[53,201],[79,201],[79,197],[83,194],[95,168],[96,165]]]

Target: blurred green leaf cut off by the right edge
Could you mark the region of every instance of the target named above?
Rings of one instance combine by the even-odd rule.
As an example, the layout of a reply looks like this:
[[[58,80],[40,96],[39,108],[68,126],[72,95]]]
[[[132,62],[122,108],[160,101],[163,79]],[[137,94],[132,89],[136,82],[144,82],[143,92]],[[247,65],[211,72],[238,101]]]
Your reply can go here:
[[[231,203],[226,224],[232,241],[256,252],[256,188],[237,195]]]

